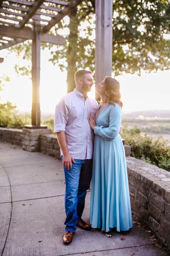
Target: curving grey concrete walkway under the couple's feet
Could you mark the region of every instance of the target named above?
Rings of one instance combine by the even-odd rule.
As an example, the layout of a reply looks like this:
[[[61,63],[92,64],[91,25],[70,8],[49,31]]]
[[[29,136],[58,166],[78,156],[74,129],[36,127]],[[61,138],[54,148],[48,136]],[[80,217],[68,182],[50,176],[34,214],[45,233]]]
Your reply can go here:
[[[60,160],[0,143],[0,255],[168,255],[152,244],[151,233],[136,224],[129,232],[113,232],[112,237],[78,228],[73,242],[63,244],[64,191]],[[87,222],[89,198],[90,192],[82,216]]]

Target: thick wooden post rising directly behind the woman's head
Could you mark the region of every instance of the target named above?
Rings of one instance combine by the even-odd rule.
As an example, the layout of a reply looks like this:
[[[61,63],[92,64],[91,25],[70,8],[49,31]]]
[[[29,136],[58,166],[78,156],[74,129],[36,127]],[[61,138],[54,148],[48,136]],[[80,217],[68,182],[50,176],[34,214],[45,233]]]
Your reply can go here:
[[[112,40],[113,40],[113,1],[95,0],[96,40],[95,40],[95,86],[105,76],[112,75]],[[96,99],[99,95],[96,93]]]

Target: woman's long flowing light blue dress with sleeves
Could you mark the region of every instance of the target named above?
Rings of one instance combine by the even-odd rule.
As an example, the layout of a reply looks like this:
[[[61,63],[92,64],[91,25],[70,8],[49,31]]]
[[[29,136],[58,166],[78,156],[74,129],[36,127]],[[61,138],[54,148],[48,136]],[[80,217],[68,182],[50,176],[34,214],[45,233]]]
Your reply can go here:
[[[126,158],[119,135],[121,116],[122,108],[117,103],[95,116],[90,224],[107,232],[114,227],[117,231],[128,230],[133,225]]]

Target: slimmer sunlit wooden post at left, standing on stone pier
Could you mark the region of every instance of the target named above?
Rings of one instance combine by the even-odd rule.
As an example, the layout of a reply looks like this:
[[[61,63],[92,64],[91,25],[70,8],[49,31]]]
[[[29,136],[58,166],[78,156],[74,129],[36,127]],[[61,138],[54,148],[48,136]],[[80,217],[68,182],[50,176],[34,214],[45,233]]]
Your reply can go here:
[[[40,24],[34,23],[34,38],[32,40],[32,125],[40,126]]]

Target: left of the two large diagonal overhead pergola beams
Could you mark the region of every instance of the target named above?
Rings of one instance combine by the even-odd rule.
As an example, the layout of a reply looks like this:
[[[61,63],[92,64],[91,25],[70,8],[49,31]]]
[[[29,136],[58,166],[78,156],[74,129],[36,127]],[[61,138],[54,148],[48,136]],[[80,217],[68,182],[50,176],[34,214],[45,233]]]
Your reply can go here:
[[[44,0],[36,0],[29,8],[28,13],[24,16],[23,20],[19,23],[19,25],[16,25],[16,27],[23,28],[24,25],[29,21],[30,18],[37,12],[39,7],[42,5]]]

